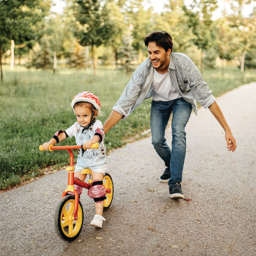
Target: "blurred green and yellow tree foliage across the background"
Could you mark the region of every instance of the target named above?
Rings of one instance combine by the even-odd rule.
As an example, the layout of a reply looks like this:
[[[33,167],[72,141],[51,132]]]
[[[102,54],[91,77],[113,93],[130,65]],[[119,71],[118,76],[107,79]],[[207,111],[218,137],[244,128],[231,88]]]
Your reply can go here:
[[[57,14],[50,12],[52,0],[0,0],[0,62],[14,40],[15,45],[25,45],[15,48],[20,57],[39,43],[40,50],[34,48],[36,60],[29,54],[30,64],[36,67],[49,68],[52,57],[55,69],[57,59],[64,58],[71,59],[72,66],[83,66],[83,59],[90,55],[94,73],[98,57],[104,63],[119,63],[130,69],[131,62],[141,63],[147,56],[143,38],[161,30],[171,34],[173,51],[196,59],[201,71],[203,64],[213,67],[217,55],[223,64],[239,59],[241,71],[244,66],[253,66],[246,62],[254,62],[256,8],[243,17],[244,7],[253,0],[227,1],[232,13],[223,12],[217,20],[213,19],[217,0],[192,0],[190,6],[185,0],[169,0],[162,13],[145,8],[144,0],[65,1],[64,12]]]

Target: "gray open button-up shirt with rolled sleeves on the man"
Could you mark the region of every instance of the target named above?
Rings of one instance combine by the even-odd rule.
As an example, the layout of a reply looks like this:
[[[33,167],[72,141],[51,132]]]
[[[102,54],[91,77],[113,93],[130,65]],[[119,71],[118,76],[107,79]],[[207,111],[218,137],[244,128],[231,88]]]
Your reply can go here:
[[[144,99],[152,96],[153,66],[146,59],[131,76],[113,110],[127,118],[134,109],[141,105]],[[197,66],[183,53],[173,52],[170,55],[168,68],[171,84],[185,101],[192,105],[197,115],[197,102],[208,108],[215,102],[215,97],[201,76]]]

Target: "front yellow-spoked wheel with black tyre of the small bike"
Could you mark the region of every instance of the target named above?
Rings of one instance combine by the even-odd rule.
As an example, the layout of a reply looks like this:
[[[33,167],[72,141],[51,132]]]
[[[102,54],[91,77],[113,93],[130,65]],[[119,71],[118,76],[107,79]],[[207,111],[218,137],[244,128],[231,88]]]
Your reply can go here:
[[[78,219],[74,220],[75,197],[63,197],[55,211],[55,230],[59,237],[65,241],[75,240],[83,227],[83,207],[78,205]]]

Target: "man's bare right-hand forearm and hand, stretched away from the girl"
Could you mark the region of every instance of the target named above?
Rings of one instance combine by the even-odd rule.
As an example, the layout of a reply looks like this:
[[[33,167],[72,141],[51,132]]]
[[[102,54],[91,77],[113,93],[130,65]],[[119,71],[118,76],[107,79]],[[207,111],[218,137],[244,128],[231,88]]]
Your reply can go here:
[[[229,125],[227,124],[227,121],[226,121],[220,107],[218,106],[217,102],[215,101],[208,108],[211,111],[211,113],[215,116],[215,118],[218,120],[218,122],[220,123],[220,125],[222,126],[222,128],[225,131],[227,148],[229,148],[229,151],[234,152],[234,150],[236,150],[236,140],[232,134],[232,131],[231,131]]]

